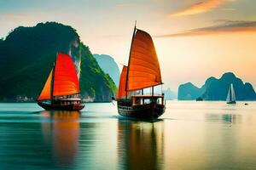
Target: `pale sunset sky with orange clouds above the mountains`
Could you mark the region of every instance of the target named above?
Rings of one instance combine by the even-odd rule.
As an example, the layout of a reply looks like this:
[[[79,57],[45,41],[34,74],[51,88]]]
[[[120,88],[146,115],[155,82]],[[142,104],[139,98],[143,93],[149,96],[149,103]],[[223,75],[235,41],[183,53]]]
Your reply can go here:
[[[164,88],[234,72],[256,88],[255,0],[0,0],[0,37],[17,26],[73,26],[92,54],[121,69],[137,28],[154,40]]]

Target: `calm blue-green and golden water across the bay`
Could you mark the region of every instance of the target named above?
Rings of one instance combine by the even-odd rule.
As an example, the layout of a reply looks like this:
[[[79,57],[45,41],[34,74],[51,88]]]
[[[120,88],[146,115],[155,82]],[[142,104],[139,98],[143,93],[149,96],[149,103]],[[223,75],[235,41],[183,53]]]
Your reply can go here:
[[[0,104],[0,169],[256,169],[256,102],[167,102],[159,122],[112,104]]]

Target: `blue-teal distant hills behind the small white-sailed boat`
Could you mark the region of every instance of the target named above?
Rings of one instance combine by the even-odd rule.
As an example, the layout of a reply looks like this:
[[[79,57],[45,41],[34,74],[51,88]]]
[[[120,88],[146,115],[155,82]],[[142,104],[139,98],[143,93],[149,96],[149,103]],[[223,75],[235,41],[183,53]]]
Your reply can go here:
[[[194,100],[201,97],[204,100],[225,100],[230,83],[233,83],[237,100],[256,100],[253,86],[243,83],[234,73],[227,72],[217,79],[210,77],[201,88],[195,87],[191,82],[182,84],[178,88],[179,100]]]

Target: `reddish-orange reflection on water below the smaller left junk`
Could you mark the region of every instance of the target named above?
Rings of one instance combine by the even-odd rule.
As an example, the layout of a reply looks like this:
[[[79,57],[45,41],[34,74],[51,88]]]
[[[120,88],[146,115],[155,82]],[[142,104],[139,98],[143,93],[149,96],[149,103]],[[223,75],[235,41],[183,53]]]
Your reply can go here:
[[[58,167],[71,167],[79,144],[79,111],[42,111],[44,141],[52,145]]]

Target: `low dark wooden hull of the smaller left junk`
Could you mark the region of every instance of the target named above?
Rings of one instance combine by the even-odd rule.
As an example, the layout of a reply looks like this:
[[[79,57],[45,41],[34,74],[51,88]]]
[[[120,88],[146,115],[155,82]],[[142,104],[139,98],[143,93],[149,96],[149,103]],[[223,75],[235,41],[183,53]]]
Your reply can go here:
[[[51,105],[43,102],[38,102],[38,105],[43,107],[46,111],[80,111],[84,108],[82,104],[70,104],[70,105]]]

